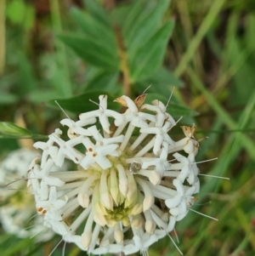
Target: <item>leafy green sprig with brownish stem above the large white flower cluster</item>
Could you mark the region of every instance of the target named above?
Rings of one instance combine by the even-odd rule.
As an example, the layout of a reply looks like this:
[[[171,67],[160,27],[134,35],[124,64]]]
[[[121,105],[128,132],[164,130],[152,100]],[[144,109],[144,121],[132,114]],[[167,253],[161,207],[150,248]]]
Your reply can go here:
[[[71,16],[81,31],[59,35],[59,39],[88,65],[101,70],[93,78],[93,86],[105,89],[102,81],[107,82],[112,77],[111,90],[117,87],[117,73],[127,76],[128,72],[129,87],[151,78],[156,88],[160,88],[157,83],[160,84],[161,77],[156,76],[156,72],[161,68],[173,31],[173,20],[163,22],[170,1],[133,1],[131,5],[116,8],[111,13],[106,13],[93,1],[86,3],[87,11],[71,9]],[[169,76],[168,84],[180,84],[173,74]],[[87,88],[90,87],[91,84]]]

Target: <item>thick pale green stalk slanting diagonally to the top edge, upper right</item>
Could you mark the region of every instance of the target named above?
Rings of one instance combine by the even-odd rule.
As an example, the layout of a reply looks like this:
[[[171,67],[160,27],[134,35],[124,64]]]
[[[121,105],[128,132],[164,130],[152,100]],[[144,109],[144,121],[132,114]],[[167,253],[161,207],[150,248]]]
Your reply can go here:
[[[203,20],[199,30],[195,34],[195,37],[192,38],[189,48],[184,54],[182,60],[179,62],[175,72],[177,77],[180,77],[185,71],[187,65],[195,54],[196,49],[199,47],[201,40],[207,34],[207,31],[212,26],[212,22],[217,19],[217,15],[222,9],[225,0],[216,0],[212,3],[212,7],[208,12],[206,18]]]

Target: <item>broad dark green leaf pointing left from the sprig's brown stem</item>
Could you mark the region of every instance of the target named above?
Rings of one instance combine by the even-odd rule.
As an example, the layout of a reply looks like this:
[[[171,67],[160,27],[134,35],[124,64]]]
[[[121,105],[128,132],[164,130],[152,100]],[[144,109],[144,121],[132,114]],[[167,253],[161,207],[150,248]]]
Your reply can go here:
[[[61,35],[59,39],[71,47],[81,58],[90,65],[95,65],[104,70],[116,71],[119,62],[116,56],[95,42],[93,38],[81,37],[79,35]]]

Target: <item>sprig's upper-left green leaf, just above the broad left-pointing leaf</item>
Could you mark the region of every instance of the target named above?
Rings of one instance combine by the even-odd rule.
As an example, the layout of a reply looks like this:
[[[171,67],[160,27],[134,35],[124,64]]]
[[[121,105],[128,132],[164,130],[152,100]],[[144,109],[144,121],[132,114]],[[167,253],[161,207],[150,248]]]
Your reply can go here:
[[[105,26],[95,20],[93,16],[88,13],[82,12],[80,9],[72,8],[71,16],[76,20],[77,24],[82,28],[84,34],[89,38],[92,37],[94,40],[102,41],[102,47],[111,51],[112,54],[115,54],[117,57],[117,44],[114,31],[111,26]],[[117,59],[117,58],[116,58]]]

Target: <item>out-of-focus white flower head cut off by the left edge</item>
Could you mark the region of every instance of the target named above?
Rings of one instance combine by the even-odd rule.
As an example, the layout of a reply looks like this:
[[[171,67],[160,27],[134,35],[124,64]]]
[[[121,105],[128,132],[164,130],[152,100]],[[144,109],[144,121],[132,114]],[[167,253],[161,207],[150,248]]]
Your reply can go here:
[[[47,241],[54,233],[42,225],[37,214],[34,198],[27,195],[26,181],[29,165],[35,157],[40,156],[38,151],[26,148],[16,150],[0,162],[0,185],[1,202],[0,221],[6,232],[19,237],[37,236],[37,241]],[[20,179],[19,181],[15,181]],[[9,184],[9,185],[8,185]],[[26,229],[26,226],[31,228]]]

